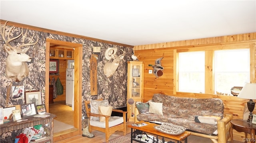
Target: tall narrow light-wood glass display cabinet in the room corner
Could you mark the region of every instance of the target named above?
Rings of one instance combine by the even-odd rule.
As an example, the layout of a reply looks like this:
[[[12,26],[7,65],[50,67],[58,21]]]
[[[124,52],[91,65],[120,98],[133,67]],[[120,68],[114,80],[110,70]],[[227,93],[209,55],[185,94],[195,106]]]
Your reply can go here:
[[[134,121],[135,103],[143,101],[145,62],[128,61],[127,63],[127,119]]]

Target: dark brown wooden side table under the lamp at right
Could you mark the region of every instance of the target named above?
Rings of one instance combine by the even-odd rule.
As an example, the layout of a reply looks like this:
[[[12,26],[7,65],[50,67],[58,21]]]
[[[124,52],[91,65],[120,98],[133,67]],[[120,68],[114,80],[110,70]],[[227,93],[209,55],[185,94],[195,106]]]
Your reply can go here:
[[[244,132],[245,134],[245,139],[243,140],[245,143],[247,141],[251,141],[251,143],[255,143],[255,129],[256,125],[247,122],[246,120],[243,119],[233,119],[230,121],[231,127],[229,130],[230,137],[231,137],[231,143],[233,143],[233,129],[235,129],[238,132]],[[250,133],[251,138],[247,138],[247,133]]]

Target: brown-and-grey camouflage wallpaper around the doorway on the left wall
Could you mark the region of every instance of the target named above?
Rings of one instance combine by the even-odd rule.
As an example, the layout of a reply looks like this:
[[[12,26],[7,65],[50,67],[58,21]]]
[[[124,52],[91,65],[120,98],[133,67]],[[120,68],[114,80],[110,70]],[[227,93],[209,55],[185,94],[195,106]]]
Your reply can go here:
[[[3,29],[3,25],[1,27]],[[5,37],[10,31],[11,26],[6,25]],[[14,27],[10,33],[10,38],[15,37],[21,33],[22,28]],[[23,30],[25,33],[26,29]],[[0,35],[0,106],[6,107],[8,105],[24,104],[24,99],[11,100],[11,95],[8,98],[7,89],[9,86],[24,86],[25,91],[41,90],[42,104],[45,100],[45,63],[46,63],[46,38],[56,39],[60,41],[68,41],[72,43],[80,43],[83,45],[83,58],[82,58],[82,115],[86,116],[84,100],[88,99],[108,99],[111,106],[114,108],[126,106],[127,97],[127,61],[132,61],[131,55],[133,48],[113,45],[109,43],[102,43],[98,41],[91,41],[86,39],[79,39],[63,35],[56,35],[52,33],[45,33],[41,31],[34,31],[28,29],[27,37],[31,38],[35,32],[35,38],[38,37],[38,43],[30,46],[26,52],[27,55],[32,57],[32,61],[27,63],[29,68],[29,75],[23,78],[22,81],[16,82],[6,76],[6,58],[8,54],[4,51],[4,39]],[[22,37],[22,36],[21,36]],[[16,47],[22,41],[21,37],[10,42],[10,45]],[[6,37],[7,39],[7,37]],[[25,40],[25,42],[28,39]],[[15,46],[16,45],[16,46]],[[93,53],[92,47],[101,47],[100,53]],[[105,51],[109,47],[117,47],[116,55],[121,55],[125,50],[124,59],[120,60],[120,64],[113,76],[107,78],[103,73],[103,67],[108,60],[105,58]],[[92,54],[98,55],[97,60],[97,75],[98,75],[98,95],[90,96],[90,57]],[[9,100],[8,100],[8,99]],[[7,102],[7,103],[6,103]],[[15,131],[16,133],[17,131]],[[13,137],[12,133],[4,133],[0,137],[0,142],[8,141],[8,137]],[[7,140],[6,140],[7,139]]]

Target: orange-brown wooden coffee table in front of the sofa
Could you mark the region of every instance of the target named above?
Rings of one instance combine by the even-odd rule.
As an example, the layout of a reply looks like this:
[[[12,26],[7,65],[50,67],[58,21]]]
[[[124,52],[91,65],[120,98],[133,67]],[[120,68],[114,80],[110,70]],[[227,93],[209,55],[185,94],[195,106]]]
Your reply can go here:
[[[128,127],[131,128],[131,143],[132,143],[132,141],[138,141],[140,143],[144,143],[143,141],[134,139],[132,137],[133,129],[134,130],[136,129],[136,130],[144,131],[144,132],[151,133],[151,134],[154,134],[154,135],[159,135],[161,137],[167,137],[169,139],[176,140],[177,143],[181,143],[181,141],[185,141],[185,143],[187,143],[188,142],[188,136],[191,134],[190,131],[184,131],[180,135],[170,135],[170,134],[162,133],[162,132],[157,131],[156,129],[154,129],[154,126],[158,125],[158,124],[150,123],[150,122],[145,122],[145,121],[139,121],[137,123],[146,123],[148,125],[145,125],[145,126],[142,126],[142,127],[134,127],[131,124],[128,125]]]

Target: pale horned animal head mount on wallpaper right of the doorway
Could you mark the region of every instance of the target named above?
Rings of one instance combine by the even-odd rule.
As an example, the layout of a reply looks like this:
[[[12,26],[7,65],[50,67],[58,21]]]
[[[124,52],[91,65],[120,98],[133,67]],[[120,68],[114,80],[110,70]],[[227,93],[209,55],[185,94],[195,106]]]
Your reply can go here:
[[[117,49],[117,48],[116,48]],[[113,50],[111,52],[111,50]],[[121,49],[122,50],[122,49]],[[108,49],[107,51],[110,51],[111,53],[111,58],[114,59],[112,62],[107,62],[105,65],[104,65],[104,68],[103,68],[103,72],[104,74],[107,76],[107,77],[110,77],[112,76],[115,72],[116,72],[116,69],[118,68],[119,66],[119,62],[120,60],[124,59],[124,53],[125,53],[125,50],[123,51],[123,54],[122,55],[119,55],[119,56],[116,56],[115,53],[116,51],[114,49]],[[107,52],[106,51],[106,52]],[[108,52],[109,53],[109,52]],[[106,56],[106,53],[105,53],[105,56]]]

